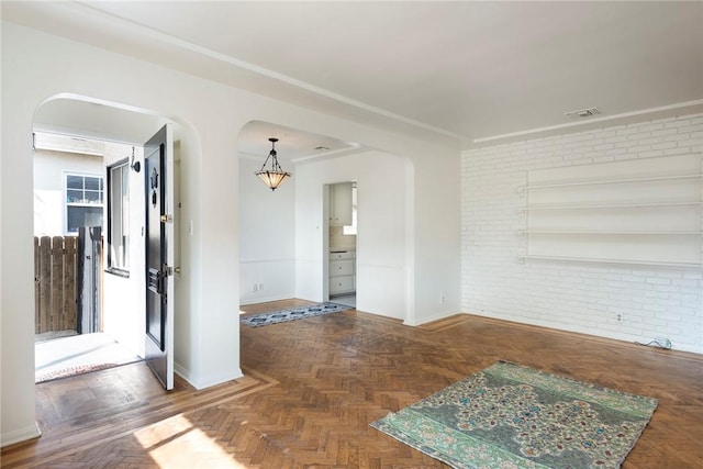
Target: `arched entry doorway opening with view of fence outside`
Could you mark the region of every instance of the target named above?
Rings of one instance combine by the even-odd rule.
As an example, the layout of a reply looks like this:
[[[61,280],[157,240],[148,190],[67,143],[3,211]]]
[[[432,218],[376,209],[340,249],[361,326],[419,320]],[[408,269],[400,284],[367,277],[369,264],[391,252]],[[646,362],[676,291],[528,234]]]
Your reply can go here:
[[[144,142],[165,121],[75,96],[45,100],[34,114],[34,234],[62,245],[35,260],[36,381],[145,357],[141,167]]]

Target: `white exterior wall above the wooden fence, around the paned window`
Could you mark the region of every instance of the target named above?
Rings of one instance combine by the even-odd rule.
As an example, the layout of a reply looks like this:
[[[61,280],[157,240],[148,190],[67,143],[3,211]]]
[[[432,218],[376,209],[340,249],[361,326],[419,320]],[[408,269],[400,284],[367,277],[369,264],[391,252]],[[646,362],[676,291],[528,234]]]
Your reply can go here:
[[[100,156],[34,152],[34,235],[66,234],[66,174],[103,176]]]

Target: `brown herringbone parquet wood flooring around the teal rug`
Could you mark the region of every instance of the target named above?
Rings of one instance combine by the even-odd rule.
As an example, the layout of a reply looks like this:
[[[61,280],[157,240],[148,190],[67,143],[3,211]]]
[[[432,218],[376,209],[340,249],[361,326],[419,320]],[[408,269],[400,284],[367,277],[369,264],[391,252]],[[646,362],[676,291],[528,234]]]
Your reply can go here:
[[[247,313],[301,304],[244,306]],[[245,377],[163,391],[134,364],[37,384],[44,436],[2,467],[444,468],[369,423],[499,359],[659,400],[623,468],[702,468],[703,357],[467,314],[349,310],[241,330]]]

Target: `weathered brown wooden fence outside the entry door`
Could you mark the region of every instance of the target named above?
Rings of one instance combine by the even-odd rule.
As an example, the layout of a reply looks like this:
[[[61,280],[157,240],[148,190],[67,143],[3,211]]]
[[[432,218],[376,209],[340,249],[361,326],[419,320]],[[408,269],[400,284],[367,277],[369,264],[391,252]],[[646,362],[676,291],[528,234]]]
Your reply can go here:
[[[77,244],[75,236],[34,237],[36,334],[77,328]]]

